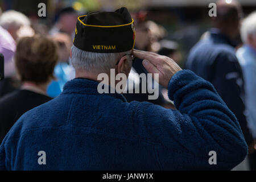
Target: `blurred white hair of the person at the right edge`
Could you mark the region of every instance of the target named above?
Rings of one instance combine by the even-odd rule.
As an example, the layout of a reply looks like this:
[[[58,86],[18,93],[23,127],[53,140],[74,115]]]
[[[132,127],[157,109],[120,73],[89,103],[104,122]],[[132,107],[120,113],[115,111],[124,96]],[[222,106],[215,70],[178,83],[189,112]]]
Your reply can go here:
[[[242,22],[241,38],[243,43],[247,43],[249,35],[256,36],[256,11],[247,16]]]

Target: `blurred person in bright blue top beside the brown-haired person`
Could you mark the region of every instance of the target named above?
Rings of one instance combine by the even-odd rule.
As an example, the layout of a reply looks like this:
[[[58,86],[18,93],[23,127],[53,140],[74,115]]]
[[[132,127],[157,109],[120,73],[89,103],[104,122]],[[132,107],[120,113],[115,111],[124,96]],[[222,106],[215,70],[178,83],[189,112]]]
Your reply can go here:
[[[75,71],[69,65],[69,54],[72,46],[70,36],[65,33],[57,33],[53,35],[53,40],[58,47],[59,60],[54,69],[55,79],[49,84],[47,94],[50,97],[57,97],[62,92],[65,83],[75,78]]]

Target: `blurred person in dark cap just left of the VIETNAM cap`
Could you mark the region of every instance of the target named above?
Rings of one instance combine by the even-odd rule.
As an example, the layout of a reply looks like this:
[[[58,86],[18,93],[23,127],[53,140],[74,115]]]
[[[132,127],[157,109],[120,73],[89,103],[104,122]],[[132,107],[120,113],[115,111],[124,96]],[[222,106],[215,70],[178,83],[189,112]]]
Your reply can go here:
[[[57,15],[57,22],[49,31],[49,34],[54,36],[57,33],[65,33],[68,34],[73,41],[77,16],[79,16],[79,13],[73,9],[73,7],[65,7],[64,9],[60,10],[59,14]]]

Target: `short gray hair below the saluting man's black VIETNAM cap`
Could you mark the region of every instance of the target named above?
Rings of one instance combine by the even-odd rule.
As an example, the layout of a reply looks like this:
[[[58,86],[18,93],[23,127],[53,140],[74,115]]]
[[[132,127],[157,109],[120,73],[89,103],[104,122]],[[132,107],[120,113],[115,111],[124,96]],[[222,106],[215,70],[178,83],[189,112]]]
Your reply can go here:
[[[87,52],[76,46],[72,46],[71,51],[71,64],[75,69],[94,73],[110,72],[110,69],[115,67],[115,64],[122,56],[131,53],[131,51],[117,53]],[[129,61],[129,64],[131,64],[131,61]]]

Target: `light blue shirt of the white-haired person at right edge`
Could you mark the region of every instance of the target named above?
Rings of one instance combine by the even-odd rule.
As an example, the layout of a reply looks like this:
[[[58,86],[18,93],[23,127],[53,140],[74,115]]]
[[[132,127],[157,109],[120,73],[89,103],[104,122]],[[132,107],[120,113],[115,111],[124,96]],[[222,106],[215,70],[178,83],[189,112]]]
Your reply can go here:
[[[238,49],[237,58],[245,81],[245,115],[251,134],[256,138],[256,49],[245,45]]]

